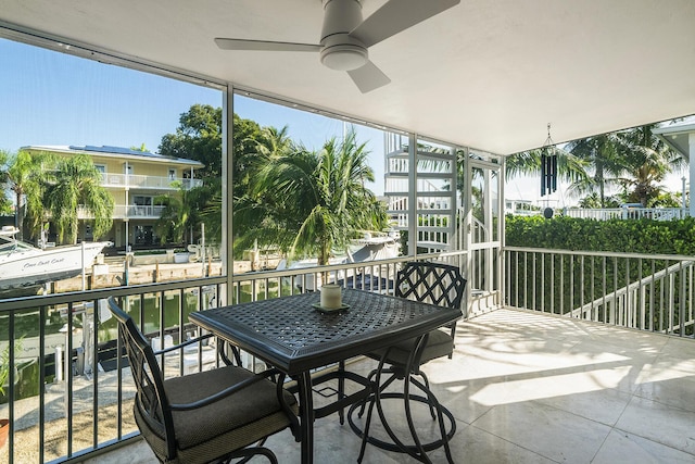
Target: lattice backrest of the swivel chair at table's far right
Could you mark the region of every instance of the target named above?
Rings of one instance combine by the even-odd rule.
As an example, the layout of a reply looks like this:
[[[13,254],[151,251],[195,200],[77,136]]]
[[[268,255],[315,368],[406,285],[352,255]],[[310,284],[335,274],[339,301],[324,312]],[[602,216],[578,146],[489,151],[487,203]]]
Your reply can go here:
[[[399,271],[395,296],[460,310],[466,279],[458,267],[443,263],[412,261]]]

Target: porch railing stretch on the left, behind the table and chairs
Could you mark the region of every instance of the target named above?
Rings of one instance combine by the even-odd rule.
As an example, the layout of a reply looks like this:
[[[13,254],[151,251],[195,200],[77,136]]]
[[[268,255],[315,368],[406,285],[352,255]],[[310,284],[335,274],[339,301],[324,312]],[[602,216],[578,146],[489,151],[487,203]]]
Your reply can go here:
[[[325,279],[392,292],[399,266],[412,259],[239,274],[231,278],[229,303],[304,292]],[[418,259],[466,263],[465,253]],[[127,418],[135,387],[116,355],[117,325],[102,302],[122,298],[140,330],[161,347],[197,333],[188,323],[191,311],[227,304],[227,281],[226,276],[204,277],[0,300],[0,352],[9,346],[7,340],[21,340],[9,352],[11,364],[20,367],[11,371],[5,401],[0,401],[0,417],[12,424],[0,460],[81,462],[136,438],[137,427]],[[254,367],[255,360],[243,359]],[[170,377],[219,362],[214,349],[201,344],[176,352],[162,366]]]

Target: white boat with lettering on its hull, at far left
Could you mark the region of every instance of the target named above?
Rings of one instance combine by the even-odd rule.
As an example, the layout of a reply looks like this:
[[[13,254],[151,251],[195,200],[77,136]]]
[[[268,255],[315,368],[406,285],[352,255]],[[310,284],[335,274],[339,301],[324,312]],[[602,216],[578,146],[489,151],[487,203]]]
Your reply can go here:
[[[37,248],[16,239],[14,226],[0,228],[0,291],[75,277],[91,267],[110,241]]]

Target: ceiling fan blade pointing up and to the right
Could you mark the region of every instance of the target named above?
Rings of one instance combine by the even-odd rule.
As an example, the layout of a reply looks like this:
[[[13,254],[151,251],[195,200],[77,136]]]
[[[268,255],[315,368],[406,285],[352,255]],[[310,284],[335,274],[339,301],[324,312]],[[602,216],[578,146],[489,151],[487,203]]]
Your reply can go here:
[[[355,27],[350,36],[369,48],[460,3],[460,0],[390,0]]]

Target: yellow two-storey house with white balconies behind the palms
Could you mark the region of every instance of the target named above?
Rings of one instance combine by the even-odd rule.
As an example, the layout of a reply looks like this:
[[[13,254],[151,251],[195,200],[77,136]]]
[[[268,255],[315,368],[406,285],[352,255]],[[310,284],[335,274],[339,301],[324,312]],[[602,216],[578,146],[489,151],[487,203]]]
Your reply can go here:
[[[195,170],[203,167],[202,163],[149,151],[105,146],[29,146],[22,150],[59,156],[84,153],[91,158],[102,174],[102,186],[114,200],[113,228],[103,238],[113,241],[116,248],[156,244],[154,223],[163,206],[155,204],[154,199],[176,192],[177,186],[190,189],[202,185],[195,178]],[[88,220],[89,215],[81,211],[79,218]],[[93,239],[89,223],[80,225],[78,237]]]

